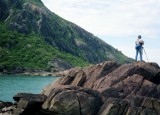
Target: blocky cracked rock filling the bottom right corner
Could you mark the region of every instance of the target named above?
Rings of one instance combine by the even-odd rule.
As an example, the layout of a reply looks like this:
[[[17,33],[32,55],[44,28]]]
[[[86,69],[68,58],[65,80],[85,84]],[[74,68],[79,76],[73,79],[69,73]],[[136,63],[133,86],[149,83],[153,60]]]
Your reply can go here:
[[[132,100],[133,99],[133,100]],[[144,97],[108,98],[98,115],[159,115],[159,100]]]

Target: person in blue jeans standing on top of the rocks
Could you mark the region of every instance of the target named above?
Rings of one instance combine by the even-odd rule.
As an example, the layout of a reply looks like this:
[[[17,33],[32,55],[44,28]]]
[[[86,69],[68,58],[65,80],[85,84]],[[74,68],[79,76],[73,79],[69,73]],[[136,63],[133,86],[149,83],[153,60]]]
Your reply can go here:
[[[136,41],[136,57],[135,60],[137,61],[138,58],[138,54],[140,55],[140,61],[142,61],[142,54],[143,54],[143,45],[144,45],[144,41],[141,39],[141,35],[138,36],[138,39]]]

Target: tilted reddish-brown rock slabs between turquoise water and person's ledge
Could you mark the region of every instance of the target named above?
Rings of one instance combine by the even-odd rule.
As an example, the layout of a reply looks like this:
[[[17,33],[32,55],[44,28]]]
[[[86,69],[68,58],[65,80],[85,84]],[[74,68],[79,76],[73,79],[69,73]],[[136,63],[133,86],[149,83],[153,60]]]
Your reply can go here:
[[[119,64],[113,61],[104,62],[101,64],[93,65],[86,68],[72,68],[70,70],[61,72],[59,75],[63,76],[55,83],[47,86],[43,93],[48,95],[52,88],[56,85],[75,85],[86,88],[93,88],[94,83],[101,77],[114,71],[119,67]]]

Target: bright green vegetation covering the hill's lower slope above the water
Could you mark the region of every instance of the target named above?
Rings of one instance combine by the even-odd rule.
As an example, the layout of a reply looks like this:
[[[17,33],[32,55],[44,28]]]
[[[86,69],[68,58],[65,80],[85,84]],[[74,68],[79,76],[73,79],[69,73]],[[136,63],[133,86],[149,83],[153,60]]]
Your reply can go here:
[[[41,36],[24,35],[16,31],[8,31],[0,24],[0,68],[6,70],[17,67],[32,69],[49,69],[48,62],[61,59],[73,66],[86,66],[89,63],[69,53],[59,51],[48,45]]]

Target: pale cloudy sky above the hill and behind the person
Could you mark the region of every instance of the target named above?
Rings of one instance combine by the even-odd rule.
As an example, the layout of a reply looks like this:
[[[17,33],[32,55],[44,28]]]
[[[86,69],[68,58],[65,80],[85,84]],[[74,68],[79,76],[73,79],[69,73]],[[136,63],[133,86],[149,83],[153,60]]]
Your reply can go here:
[[[135,58],[138,35],[144,40],[143,59],[160,65],[159,0],[42,0],[44,5],[128,57]]]

